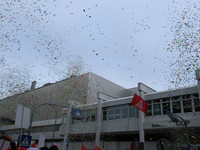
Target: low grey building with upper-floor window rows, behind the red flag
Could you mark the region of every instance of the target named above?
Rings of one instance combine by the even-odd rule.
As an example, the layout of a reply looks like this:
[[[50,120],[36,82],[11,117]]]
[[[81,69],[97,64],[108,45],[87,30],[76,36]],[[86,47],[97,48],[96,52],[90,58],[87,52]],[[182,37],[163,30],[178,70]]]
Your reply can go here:
[[[140,138],[139,113],[134,106],[130,105],[132,98],[133,96],[112,100],[102,99],[101,128],[99,129],[101,148],[126,150],[129,149],[131,141]],[[190,121],[188,125],[190,142],[196,148],[200,146],[200,103],[197,86],[173,91],[152,92],[145,94],[144,100],[149,104],[143,123],[145,150],[157,149],[156,142],[161,138],[168,139],[173,144],[173,134],[176,134],[176,130],[184,132],[184,126],[177,126],[176,123],[170,121],[166,114],[167,111]],[[82,144],[89,149],[95,146],[98,126],[97,119],[95,121],[92,118],[95,118],[93,114],[96,114],[97,108],[97,103],[85,107],[81,106],[79,109],[82,110],[83,120],[74,120],[72,111],[70,119],[72,123],[68,135],[69,149],[78,150]],[[90,116],[91,121],[88,121],[88,116]],[[63,127],[61,126],[60,135],[64,136],[64,130],[65,124]],[[184,138],[185,135],[182,136]],[[186,145],[180,145],[180,147],[184,146]]]

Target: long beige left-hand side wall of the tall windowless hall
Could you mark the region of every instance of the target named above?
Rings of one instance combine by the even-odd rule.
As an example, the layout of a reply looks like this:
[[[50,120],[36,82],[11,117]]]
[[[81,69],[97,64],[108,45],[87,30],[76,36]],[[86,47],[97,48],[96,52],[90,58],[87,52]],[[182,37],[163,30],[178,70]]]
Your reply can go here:
[[[17,104],[24,105],[33,111],[38,105],[45,102],[65,105],[68,100],[87,103],[89,73],[47,85],[33,91],[8,97],[0,101],[0,110],[4,116],[15,119]],[[62,117],[63,107],[55,107],[58,118]],[[55,111],[49,105],[41,106],[34,114],[34,121],[54,119]]]

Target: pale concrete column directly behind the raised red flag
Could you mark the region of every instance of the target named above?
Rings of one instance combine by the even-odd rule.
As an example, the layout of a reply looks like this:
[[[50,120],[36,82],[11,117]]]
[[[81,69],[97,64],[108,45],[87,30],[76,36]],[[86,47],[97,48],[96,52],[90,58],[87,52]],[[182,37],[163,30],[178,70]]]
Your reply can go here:
[[[143,91],[139,91],[139,96],[144,99]],[[140,136],[140,142],[144,144],[144,113],[139,110],[139,136]],[[143,149],[144,150],[144,147]]]

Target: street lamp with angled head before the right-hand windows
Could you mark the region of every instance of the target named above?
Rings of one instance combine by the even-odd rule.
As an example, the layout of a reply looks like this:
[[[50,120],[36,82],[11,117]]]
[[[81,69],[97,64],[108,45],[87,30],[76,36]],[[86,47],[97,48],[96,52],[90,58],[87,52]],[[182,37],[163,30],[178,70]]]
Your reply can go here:
[[[188,143],[188,147],[189,147],[189,150],[190,150],[190,141],[189,141],[188,127],[187,127],[187,124],[189,124],[190,121],[189,120],[184,120],[183,118],[173,114],[170,111],[167,112],[167,115],[171,119],[172,122],[176,122],[177,126],[180,126],[180,125],[185,126],[185,129],[187,131],[187,143]],[[182,120],[182,122],[180,122],[178,118],[180,118]]]

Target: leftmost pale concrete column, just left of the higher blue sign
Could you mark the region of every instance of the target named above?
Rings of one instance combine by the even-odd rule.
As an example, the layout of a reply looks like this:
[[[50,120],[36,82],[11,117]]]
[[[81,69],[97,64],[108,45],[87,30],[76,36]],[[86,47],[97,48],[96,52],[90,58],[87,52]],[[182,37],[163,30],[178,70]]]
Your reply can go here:
[[[71,119],[71,107],[67,109],[67,115],[66,115],[66,125],[65,125],[65,135],[64,135],[64,141],[63,141],[63,147],[62,150],[68,150],[67,148],[67,142],[68,141],[68,135],[69,135],[69,127],[70,127],[70,119]]]

